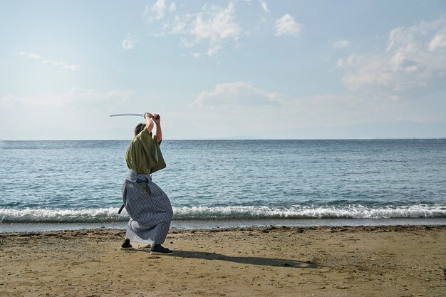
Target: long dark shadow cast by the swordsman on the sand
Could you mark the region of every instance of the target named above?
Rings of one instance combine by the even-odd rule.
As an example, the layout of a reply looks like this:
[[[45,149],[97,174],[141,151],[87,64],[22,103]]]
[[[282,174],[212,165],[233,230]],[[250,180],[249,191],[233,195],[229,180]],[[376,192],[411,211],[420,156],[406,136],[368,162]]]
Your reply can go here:
[[[139,250],[150,253],[150,250]],[[202,259],[202,260],[219,260],[228,261],[240,264],[250,264],[250,265],[261,265],[261,266],[282,266],[291,268],[318,268],[321,265],[314,264],[310,261],[298,261],[289,259],[274,259],[274,258],[261,258],[261,257],[250,257],[250,256],[226,256],[216,253],[207,253],[203,251],[174,251],[171,255],[178,258],[188,258],[188,259]]]

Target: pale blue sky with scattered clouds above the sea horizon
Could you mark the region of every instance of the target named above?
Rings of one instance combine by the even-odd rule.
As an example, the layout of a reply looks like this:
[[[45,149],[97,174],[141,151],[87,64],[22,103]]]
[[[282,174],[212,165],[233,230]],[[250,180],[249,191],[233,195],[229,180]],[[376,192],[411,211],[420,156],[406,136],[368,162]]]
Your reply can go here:
[[[446,137],[446,1],[0,0],[0,140]]]

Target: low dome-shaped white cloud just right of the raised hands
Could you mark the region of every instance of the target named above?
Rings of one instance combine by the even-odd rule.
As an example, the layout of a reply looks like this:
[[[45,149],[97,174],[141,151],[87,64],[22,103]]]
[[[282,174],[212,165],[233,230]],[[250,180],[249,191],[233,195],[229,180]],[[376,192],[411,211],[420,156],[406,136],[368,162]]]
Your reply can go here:
[[[265,106],[279,105],[277,93],[267,93],[252,83],[218,83],[214,90],[200,93],[192,106]]]

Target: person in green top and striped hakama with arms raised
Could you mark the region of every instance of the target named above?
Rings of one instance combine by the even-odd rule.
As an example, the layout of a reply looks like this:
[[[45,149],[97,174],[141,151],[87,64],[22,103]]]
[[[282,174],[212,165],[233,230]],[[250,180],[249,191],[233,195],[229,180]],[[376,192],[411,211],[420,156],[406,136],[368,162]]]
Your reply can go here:
[[[130,241],[139,241],[150,244],[150,254],[173,254],[162,246],[170,228],[172,206],[151,175],[166,167],[160,150],[161,118],[151,113],[145,113],[144,118],[145,124],[135,127],[135,137],[125,153],[129,173],[122,187],[123,207],[130,220],[121,249],[133,249]]]

